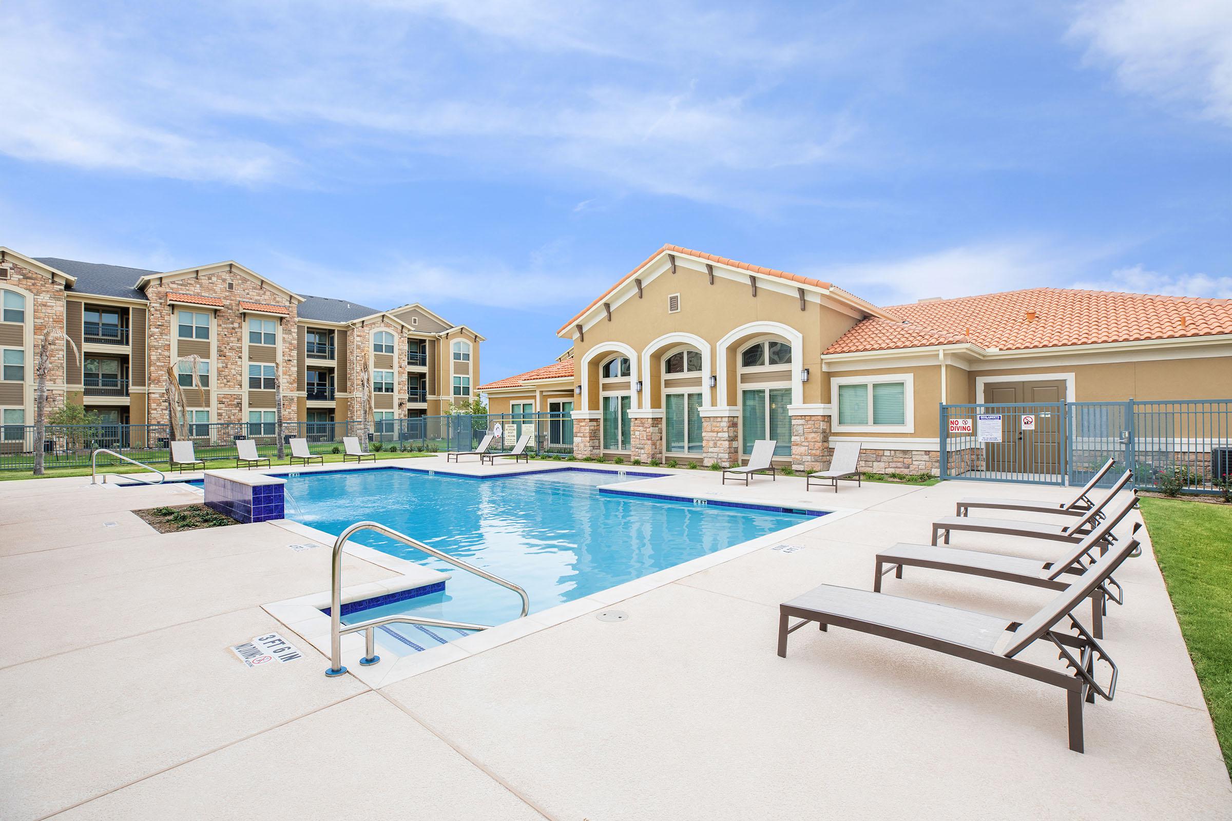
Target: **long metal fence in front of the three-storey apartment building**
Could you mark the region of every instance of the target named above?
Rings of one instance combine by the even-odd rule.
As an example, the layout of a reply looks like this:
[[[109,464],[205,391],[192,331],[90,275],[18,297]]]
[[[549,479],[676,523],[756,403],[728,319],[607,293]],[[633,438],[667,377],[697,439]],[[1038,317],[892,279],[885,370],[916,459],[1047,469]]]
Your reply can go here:
[[[272,457],[278,436],[283,441],[304,438],[313,453],[342,449],[342,437],[366,437],[372,449],[397,448],[408,452],[471,451],[488,431],[499,436],[494,451],[508,451],[519,437],[532,431],[531,449],[536,453],[573,451],[573,419],[569,414],[487,414],[466,416],[418,416],[382,420],[375,425],[357,421],[283,422],[193,422],[187,437],[198,459],[205,462],[235,458],[235,439],[254,439],[257,453]],[[0,470],[31,470],[34,467],[34,426],[0,426]],[[169,425],[48,425],[44,428],[43,464],[55,468],[87,468],[96,448],[117,451],[147,464],[169,463]],[[118,462],[100,454],[100,464]]]

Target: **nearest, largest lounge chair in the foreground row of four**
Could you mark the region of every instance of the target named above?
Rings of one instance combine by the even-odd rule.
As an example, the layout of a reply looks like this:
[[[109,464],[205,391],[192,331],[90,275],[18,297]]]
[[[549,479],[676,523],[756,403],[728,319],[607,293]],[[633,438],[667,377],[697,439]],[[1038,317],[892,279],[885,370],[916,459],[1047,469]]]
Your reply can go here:
[[[1094,703],[1096,694],[1112,700],[1117,670],[1095,638],[1073,615],[1073,611],[1106,582],[1137,547],[1137,540],[1131,538],[1109,550],[1093,561],[1085,574],[1021,624],[957,607],[822,585],[779,606],[779,655],[785,659],[787,656],[788,633],[817,622],[822,630],[833,624],[871,633],[1034,678],[1066,691],[1069,748],[1082,752],[1083,704]],[[791,625],[791,618],[802,620]],[[1016,657],[1037,641],[1052,645],[1048,652],[1060,651],[1063,661],[1061,668]],[[1103,661],[1111,668],[1106,686],[1096,681],[1096,661]]]

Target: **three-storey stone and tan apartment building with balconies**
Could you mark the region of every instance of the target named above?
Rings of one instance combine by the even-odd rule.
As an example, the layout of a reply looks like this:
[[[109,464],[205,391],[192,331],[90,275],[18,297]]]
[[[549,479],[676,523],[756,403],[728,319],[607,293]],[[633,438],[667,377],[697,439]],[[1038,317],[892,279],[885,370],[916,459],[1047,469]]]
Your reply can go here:
[[[479,382],[484,337],[464,325],[418,303],[297,294],[238,262],[145,271],[0,246],[0,421],[12,432],[33,422],[49,329],[71,340],[49,348],[49,409],[75,402],[105,423],[166,422],[172,379],[190,423],[267,433],[280,380],[283,420],[318,422],[359,419],[363,390],[378,422],[441,414]]]

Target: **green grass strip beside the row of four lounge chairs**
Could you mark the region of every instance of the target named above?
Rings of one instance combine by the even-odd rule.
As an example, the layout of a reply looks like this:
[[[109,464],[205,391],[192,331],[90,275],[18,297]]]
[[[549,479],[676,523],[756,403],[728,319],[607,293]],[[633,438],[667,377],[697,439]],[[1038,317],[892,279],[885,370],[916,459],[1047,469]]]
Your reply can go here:
[[[1232,772],[1232,506],[1143,499],[1151,543]]]

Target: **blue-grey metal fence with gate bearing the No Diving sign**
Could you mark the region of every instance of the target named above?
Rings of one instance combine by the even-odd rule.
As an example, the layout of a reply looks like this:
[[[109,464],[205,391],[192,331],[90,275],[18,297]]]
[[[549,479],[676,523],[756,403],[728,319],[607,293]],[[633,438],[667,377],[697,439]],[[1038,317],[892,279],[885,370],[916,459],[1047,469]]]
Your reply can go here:
[[[941,405],[940,426],[942,479],[1083,485],[1109,458],[1143,489],[1232,478],[1232,400]]]

